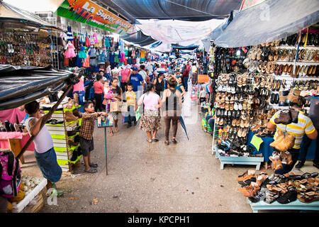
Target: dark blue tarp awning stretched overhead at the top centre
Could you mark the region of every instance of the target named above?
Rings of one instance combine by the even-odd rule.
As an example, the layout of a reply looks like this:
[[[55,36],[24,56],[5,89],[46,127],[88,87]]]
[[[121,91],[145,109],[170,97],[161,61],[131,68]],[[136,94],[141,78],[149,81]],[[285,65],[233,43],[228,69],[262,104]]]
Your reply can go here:
[[[103,1],[103,0],[101,0]],[[105,0],[104,0],[105,1]],[[206,21],[227,18],[231,10],[240,9],[242,0],[112,0],[137,19],[174,19]]]

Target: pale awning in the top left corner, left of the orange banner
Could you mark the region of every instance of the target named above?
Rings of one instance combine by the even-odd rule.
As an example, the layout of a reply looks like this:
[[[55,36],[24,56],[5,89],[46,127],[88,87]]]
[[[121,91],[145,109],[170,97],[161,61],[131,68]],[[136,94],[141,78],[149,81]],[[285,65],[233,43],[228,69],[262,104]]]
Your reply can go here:
[[[15,6],[11,6],[4,1],[0,1],[0,22],[33,26],[45,30],[62,31],[61,28],[57,28],[52,26],[52,24],[43,21],[39,16],[24,11],[23,9],[18,9]]]

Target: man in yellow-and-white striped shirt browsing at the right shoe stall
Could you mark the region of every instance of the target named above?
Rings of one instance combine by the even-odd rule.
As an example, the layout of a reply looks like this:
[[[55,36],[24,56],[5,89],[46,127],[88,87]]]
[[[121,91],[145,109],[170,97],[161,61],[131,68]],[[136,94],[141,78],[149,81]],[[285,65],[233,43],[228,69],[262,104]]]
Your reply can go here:
[[[274,172],[275,175],[284,175],[293,169],[293,166],[298,161],[301,140],[305,133],[310,140],[315,140],[318,136],[318,132],[315,130],[311,119],[301,111],[303,109],[303,105],[306,104],[306,99],[303,96],[296,96],[296,98],[291,100],[291,103],[291,109],[298,111],[298,123],[289,123],[287,125],[281,123],[276,124],[274,120],[279,117],[280,113],[280,111],[277,111],[267,124],[267,129],[269,131],[276,131],[274,140],[276,140],[278,136],[278,131],[286,131],[295,138],[293,147],[287,150],[291,153],[293,163],[291,165],[282,164],[283,169],[276,170]]]

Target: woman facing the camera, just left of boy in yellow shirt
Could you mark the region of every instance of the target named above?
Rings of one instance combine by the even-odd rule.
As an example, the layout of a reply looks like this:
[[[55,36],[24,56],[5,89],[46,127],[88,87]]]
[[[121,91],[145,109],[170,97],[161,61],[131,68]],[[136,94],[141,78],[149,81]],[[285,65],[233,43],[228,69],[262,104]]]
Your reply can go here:
[[[118,78],[113,77],[111,79],[111,88],[108,91],[108,94],[106,94],[105,98],[111,102],[113,101],[122,101],[122,90],[120,87],[118,87]],[[114,120],[114,127],[115,127],[115,131],[118,131],[118,112],[110,112],[110,110],[108,109],[106,111],[107,114],[109,114],[110,116],[112,116],[113,120]],[[110,136],[113,136],[113,127],[108,127],[110,128]]]

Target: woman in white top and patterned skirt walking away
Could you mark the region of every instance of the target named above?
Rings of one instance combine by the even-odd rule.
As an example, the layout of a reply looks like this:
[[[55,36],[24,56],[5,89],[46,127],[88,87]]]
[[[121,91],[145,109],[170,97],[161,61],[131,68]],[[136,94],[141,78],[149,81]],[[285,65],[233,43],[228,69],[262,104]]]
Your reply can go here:
[[[143,104],[142,116],[140,118],[140,130],[146,131],[149,143],[157,142],[157,131],[161,127],[159,95],[155,93],[154,84],[148,84],[145,94],[138,99],[138,106]]]

